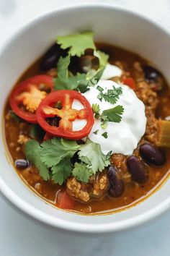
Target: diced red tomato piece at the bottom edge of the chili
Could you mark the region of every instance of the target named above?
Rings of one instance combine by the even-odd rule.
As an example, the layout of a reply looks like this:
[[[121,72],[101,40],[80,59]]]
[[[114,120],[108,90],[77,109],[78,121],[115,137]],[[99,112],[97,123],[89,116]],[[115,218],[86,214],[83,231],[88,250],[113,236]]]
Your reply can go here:
[[[71,197],[69,197],[67,192],[61,192],[61,194],[58,195],[58,207],[67,210],[73,209],[74,200]]]

